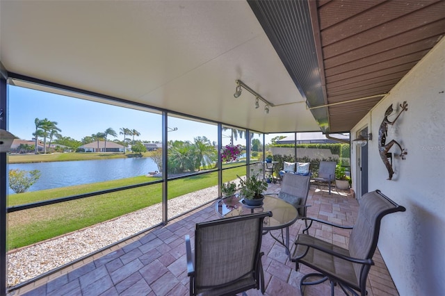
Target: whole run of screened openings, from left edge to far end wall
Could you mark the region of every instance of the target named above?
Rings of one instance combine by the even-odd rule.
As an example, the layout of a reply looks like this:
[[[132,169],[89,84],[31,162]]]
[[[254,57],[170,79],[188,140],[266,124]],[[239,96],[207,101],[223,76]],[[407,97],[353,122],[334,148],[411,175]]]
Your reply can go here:
[[[319,161],[349,165],[349,145],[321,133],[264,134],[47,87],[8,93],[8,287],[211,204],[222,183],[268,179],[268,156],[275,176],[284,163],[314,175]]]

